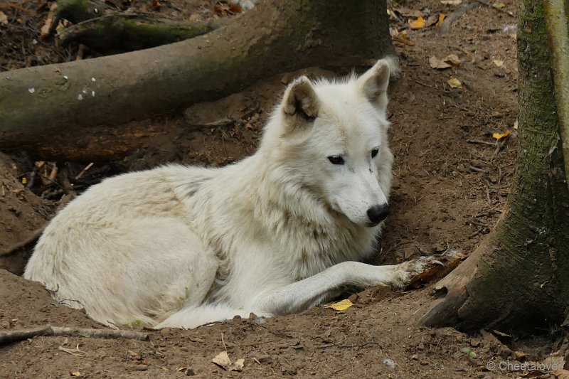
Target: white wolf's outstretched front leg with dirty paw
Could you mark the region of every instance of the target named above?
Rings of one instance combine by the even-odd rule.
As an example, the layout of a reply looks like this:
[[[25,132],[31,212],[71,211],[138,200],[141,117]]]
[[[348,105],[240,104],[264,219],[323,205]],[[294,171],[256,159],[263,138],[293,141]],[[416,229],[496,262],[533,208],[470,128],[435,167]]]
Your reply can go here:
[[[291,314],[321,304],[339,287],[388,285],[405,287],[416,274],[440,264],[432,257],[391,266],[373,266],[360,262],[341,262],[312,277],[261,295],[255,309],[270,314]]]

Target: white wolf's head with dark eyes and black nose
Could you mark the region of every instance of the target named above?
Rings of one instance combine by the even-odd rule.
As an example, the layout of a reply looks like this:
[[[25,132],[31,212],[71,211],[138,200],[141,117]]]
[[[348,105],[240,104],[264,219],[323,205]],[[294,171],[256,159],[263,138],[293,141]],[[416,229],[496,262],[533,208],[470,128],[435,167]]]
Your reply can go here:
[[[388,147],[390,60],[340,81],[297,78],[267,124],[261,148],[352,223],[387,217],[393,155]],[[393,70],[393,69],[392,69]]]

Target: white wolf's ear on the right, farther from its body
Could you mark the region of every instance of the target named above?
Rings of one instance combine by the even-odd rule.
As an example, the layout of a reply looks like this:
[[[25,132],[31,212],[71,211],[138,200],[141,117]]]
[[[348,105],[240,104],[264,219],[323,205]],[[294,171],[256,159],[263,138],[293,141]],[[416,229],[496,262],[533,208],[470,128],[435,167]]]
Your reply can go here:
[[[387,108],[389,75],[390,62],[381,59],[358,78],[358,85],[363,96],[383,112]]]

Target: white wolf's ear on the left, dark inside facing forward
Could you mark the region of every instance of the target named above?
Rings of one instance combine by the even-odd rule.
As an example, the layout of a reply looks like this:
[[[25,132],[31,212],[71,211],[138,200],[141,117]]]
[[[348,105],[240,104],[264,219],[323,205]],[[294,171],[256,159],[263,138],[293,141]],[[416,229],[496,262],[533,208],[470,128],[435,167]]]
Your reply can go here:
[[[287,87],[282,99],[282,112],[289,131],[312,124],[318,116],[318,109],[318,97],[309,78],[301,76]]]

